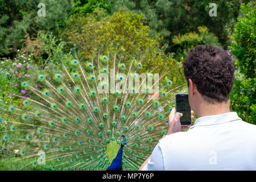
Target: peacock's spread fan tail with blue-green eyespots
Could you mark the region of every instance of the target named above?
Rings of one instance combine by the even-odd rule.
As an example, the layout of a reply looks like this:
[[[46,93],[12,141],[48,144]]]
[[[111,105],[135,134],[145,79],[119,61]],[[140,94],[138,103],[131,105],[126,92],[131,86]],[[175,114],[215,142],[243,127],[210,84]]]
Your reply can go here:
[[[32,68],[29,79],[21,81],[30,96],[15,95],[20,102],[1,106],[6,129],[0,130],[1,141],[18,148],[14,162],[26,161],[20,169],[106,170],[123,140],[122,169],[137,170],[151,154],[166,134],[181,86],[174,87],[165,74],[143,84],[156,77],[151,71],[141,76],[143,59],[106,55],[88,61],[64,56],[61,71],[53,65]]]

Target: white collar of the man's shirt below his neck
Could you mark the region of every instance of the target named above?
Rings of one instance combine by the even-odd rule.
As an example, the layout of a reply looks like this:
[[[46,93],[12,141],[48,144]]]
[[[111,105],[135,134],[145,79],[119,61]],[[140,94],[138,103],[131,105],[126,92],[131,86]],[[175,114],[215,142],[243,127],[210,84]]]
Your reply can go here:
[[[238,117],[237,112],[229,112],[229,113],[217,114],[217,115],[207,115],[195,120],[194,125],[191,126],[189,130],[195,126],[219,125],[221,123],[231,122],[235,120],[242,120],[241,118]]]

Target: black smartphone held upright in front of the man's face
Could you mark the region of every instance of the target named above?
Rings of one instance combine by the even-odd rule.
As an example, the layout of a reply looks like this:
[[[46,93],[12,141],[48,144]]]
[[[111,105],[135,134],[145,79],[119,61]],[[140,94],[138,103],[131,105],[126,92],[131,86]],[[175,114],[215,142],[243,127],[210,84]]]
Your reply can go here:
[[[189,94],[175,94],[175,108],[177,112],[183,114],[180,118],[181,125],[191,125],[191,108],[189,105]]]

